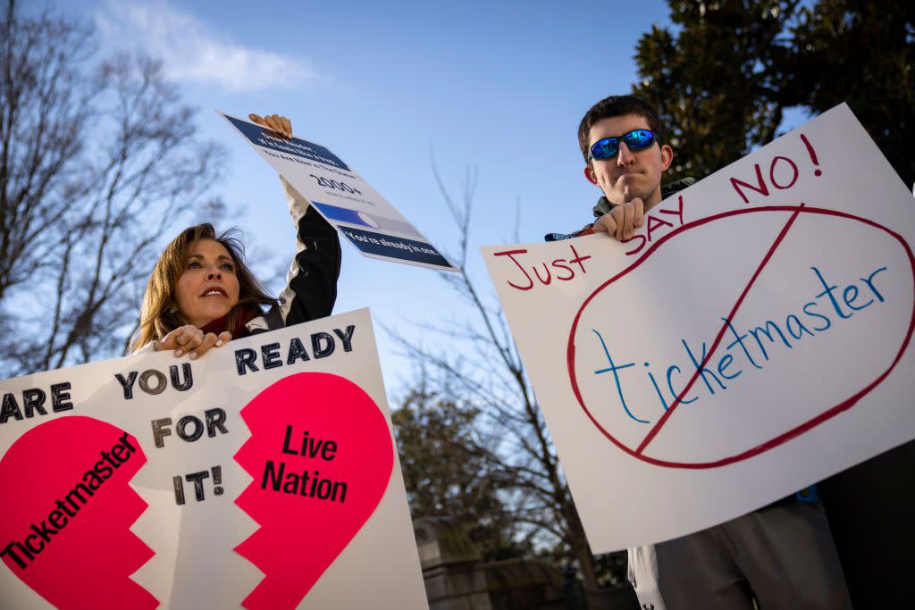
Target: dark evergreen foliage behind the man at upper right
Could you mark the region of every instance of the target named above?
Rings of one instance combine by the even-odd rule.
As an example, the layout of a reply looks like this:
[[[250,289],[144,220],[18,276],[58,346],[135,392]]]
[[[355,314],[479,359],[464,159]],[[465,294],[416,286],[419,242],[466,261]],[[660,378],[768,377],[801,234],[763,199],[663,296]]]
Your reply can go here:
[[[640,82],[670,130],[667,176],[697,178],[768,144],[784,112],[847,102],[907,184],[915,155],[915,4],[670,0],[673,27],[636,49]],[[854,151],[849,151],[854,154]]]

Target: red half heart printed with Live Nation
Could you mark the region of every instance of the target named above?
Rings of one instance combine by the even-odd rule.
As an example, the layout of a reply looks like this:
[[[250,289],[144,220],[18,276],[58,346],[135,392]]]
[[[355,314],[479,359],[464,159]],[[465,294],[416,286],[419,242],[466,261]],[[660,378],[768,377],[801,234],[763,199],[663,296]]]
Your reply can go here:
[[[293,608],[381,501],[393,470],[387,421],[359,386],[299,373],[254,398],[235,455],[254,480],[235,503],[261,526],[238,551],[264,580],[246,608]]]

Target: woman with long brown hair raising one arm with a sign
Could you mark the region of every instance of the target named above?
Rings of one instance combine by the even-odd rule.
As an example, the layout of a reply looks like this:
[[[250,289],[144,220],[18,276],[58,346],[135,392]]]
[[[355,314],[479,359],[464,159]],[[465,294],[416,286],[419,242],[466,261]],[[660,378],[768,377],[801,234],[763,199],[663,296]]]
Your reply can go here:
[[[292,137],[292,124],[276,114],[250,114],[254,123]],[[329,316],[337,298],[337,231],[285,178],[280,182],[298,231],[296,258],[286,288],[273,299],[244,264],[233,232],[210,224],[181,231],[159,256],[146,285],[134,351],[173,350],[197,359],[232,338]],[[263,306],[269,306],[266,313]]]

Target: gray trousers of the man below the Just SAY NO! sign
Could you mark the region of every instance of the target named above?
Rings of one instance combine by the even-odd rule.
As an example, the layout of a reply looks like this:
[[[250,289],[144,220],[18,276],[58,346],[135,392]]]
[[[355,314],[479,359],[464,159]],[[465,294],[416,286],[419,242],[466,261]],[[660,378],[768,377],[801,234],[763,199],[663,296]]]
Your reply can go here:
[[[785,501],[629,550],[643,610],[850,610],[823,507]]]

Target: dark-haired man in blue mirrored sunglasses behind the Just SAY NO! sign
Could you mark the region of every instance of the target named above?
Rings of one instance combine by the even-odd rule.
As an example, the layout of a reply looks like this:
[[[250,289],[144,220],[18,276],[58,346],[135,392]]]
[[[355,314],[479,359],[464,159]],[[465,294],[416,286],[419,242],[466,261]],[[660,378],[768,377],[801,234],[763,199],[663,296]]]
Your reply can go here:
[[[597,102],[578,142],[585,177],[603,193],[597,221],[570,236],[606,232],[629,240],[645,213],[694,183],[662,187],[673,149],[657,113],[631,96]],[[722,490],[727,493],[727,490]],[[845,578],[815,491],[798,492],[708,530],[629,550],[629,578],[644,610],[851,608]]]

